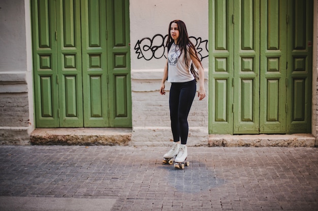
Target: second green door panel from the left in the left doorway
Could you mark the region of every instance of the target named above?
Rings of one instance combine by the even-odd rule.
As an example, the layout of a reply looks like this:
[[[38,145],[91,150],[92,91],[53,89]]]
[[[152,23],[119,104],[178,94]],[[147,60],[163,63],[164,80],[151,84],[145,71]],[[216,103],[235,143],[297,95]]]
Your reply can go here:
[[[83,127],[80,2],[56,0],[59,121],[61,128]]]

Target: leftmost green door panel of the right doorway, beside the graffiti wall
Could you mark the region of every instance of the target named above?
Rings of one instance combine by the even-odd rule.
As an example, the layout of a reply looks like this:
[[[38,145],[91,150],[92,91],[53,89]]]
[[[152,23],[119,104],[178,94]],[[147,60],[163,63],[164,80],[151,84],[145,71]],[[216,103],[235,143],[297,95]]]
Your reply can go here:
[[[233,134],[233,2],[209,1],[210,134]]]

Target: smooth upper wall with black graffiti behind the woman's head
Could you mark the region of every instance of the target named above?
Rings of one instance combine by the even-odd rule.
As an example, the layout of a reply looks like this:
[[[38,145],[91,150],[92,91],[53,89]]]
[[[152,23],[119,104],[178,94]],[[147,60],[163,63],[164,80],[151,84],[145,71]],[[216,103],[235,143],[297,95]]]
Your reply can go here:
[[[175,1],[157,1],[157,0],[131,0],[130,1],[130,28],[131,28],[131,65],[135,69],[162,69],[165,58],[138,59],[138,54],[134,49],[137,41],[142,38],[153,38],[155,34],[168,34],[169,23],[172,20],[182,20],[188,31],[189,36],[201,37],[207,40],[208,32],[208,0],[175,0]],[[149,41],[142,44],[149,45]],[[162,44],[161,37],[154,40],[154,45]],[[203,47],[202,44],[201,47]],[[143,46],[143,45],[142,45]],[[161,50],[164,50],[161,48]],[[158,50],[156,55],[162,55]],[[143,51],[145,57],[151,57],[150,51]],[[204,55],[207,52],[204,51]],[[203,65],[208,67],[208,58],[203,59]]]

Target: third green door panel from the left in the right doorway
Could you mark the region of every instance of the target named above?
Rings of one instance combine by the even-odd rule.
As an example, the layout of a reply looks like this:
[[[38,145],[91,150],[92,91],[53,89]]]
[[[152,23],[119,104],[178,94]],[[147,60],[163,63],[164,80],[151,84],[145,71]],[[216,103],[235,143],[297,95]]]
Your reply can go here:
[[[287,0],[261,2],[260,133],[285,133]]]

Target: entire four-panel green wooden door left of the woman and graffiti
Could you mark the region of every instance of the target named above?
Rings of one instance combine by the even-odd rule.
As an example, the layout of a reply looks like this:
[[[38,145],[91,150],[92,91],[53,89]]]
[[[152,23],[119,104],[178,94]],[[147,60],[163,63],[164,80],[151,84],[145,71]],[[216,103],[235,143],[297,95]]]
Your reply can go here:
[[[128,0],[31,1],[37,128],[131,126],[128,8]],[[120,58],[109,34],[124,40]]]

